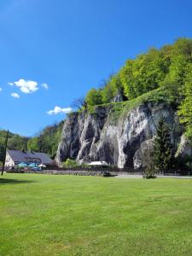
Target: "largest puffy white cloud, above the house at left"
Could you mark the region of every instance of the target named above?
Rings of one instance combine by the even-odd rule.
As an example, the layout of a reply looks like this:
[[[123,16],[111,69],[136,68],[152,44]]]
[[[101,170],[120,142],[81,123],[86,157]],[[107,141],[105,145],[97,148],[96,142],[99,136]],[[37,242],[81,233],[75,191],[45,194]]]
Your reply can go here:
[[[35,81],[20,79],[14,83],[8,83],[11,86],[17,86],[23,93],[33,93],[38,90],[38,83]]]

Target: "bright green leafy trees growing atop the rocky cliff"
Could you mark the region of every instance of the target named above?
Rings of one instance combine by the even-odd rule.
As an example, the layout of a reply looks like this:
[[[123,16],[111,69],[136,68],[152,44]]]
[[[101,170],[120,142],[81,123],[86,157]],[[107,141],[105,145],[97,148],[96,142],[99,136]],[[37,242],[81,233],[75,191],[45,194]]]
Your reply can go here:
[[[177,83],[182,86],[191,72],[192,40],[179,38],[174,44],[161,49],[149,49],[147,53],[128,60],[119,73],[110,76],[104,86],[91,89],[85,96],[87,108],[113,102],[115,96],[131,100],[144,93]]]

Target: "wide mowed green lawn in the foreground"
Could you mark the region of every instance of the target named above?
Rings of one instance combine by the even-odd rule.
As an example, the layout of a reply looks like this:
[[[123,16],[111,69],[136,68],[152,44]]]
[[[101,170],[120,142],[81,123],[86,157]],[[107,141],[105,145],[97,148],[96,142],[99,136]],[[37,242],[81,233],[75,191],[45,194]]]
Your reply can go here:
[[[0,255],[192,255],[192,180],[0,178]]]

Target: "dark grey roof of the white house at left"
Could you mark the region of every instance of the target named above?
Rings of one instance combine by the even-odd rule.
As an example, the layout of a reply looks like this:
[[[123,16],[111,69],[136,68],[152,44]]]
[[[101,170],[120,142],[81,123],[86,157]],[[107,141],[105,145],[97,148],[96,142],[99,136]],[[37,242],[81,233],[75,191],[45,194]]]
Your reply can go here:
[[[27,152],[23,150],[8,150],[7,152],[15,162],[26,162],[27,159],[40,159],[41,163],[45,165],[53,164],[53,160],[45,153]]]

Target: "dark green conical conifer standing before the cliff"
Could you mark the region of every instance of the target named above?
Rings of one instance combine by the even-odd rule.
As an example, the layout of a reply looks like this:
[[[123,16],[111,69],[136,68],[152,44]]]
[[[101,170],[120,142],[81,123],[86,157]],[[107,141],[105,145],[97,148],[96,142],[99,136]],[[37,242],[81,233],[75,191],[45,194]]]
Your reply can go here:
[[[153,152],[154,167],[160,172],[165,172],[172,166],[172,143],[170,129],[164,117],[160,118],[156,133]]]

